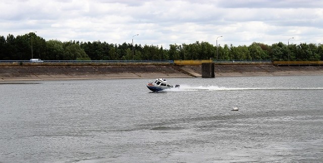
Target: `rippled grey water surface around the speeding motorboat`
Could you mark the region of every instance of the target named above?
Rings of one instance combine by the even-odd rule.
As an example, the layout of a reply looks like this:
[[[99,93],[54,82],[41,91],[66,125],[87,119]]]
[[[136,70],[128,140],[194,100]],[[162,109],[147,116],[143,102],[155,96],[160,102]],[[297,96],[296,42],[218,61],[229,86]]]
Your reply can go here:
[[[148,80],[0,84],[0,162],[323,161],[321,75]]]

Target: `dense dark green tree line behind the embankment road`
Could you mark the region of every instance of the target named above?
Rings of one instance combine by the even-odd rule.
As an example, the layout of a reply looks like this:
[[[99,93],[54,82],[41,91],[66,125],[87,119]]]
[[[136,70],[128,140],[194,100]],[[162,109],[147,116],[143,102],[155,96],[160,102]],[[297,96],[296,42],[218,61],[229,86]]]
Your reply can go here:
[[[323,44],[272,45],[253,42],[251,45],[224,46],[208,42],[163,46],[131,43],[112,44],[101,41],[79,42],[48,40],[34,32],[0,36],[0,60],[323,60]]]

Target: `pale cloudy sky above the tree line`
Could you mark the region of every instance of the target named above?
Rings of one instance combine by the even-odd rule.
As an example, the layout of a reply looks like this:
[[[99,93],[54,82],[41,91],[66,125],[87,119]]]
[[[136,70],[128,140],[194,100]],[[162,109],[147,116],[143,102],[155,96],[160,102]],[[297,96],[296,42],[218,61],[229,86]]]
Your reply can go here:
[[[321,0],[0,0],[0,35],[163,46],[323,43]],[[137,36],[134,36],[139,34]],[[133,37],[134,36],[134,37]]]

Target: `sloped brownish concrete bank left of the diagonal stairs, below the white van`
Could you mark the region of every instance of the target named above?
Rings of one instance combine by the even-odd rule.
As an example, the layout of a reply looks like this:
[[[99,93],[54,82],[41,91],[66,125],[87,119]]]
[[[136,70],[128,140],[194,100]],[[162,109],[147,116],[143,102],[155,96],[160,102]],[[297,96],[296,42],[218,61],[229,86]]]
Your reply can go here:
[[[1,66],[0,81],[191,77],[171,65]]]

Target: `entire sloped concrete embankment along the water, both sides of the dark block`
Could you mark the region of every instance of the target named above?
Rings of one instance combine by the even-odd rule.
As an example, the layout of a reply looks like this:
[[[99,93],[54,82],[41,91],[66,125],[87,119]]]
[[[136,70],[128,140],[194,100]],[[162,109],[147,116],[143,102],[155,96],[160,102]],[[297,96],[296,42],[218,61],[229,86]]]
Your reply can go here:
[[[219,76],[322,75],[320,66],[215,65]],[[105,78],[201,77],[201,65],[0,66],[0,82]]]

